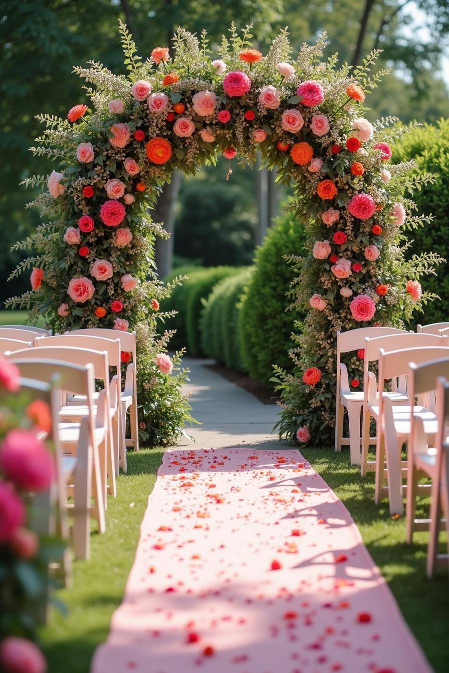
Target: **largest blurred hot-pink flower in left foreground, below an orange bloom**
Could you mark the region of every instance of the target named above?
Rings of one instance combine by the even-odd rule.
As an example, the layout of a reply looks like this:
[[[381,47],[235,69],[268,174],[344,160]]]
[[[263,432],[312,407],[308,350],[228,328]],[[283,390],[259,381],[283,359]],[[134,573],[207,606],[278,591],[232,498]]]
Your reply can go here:
[[[0,466],[6,478],[24,491],[46,491],[53,478],[50,452],[36,432],[13,429],[0,448]]]

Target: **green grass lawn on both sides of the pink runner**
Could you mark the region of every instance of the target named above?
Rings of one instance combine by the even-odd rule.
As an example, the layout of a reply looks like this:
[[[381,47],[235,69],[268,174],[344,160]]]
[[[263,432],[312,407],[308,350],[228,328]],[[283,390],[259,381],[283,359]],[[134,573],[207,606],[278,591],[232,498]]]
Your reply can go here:
[[[382,507],[374,505],[374,473],[361,479],[359,469],[349,466],[347,452],[309,449],[303,454],[351,512],[436,672],[446,672],[448,575],[442,572],[434,581],[426,579],[427,533],[417,533],[413,546],[405,544],[405,521],[390,517],[386,501]],[[123,596],[139,524],[162,455],[159,449],[129,454],[128,474],[118,478],[118,495],[108,501],[106,534],[92,536],[90,561],[75,562],[73,588],[57,592],[68,614],[55,612],[42,629],[49,673],[88,673],[96,645],[106,639],[110,617]]]

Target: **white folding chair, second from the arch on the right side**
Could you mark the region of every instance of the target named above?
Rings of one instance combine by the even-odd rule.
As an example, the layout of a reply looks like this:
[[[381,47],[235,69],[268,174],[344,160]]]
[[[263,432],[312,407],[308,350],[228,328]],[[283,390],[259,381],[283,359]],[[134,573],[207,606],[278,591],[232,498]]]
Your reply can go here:
[[[402,334],[389,334],[378,336],[375,339],[366,339],[365,359],[364,359],[364,409],[361,419],[361,476],[365,476],[368,470],[376,469],[376,460],[368,460],[368,449],[370,444],[376,444],[374,438],[370,438],[370,422],[374,418],[376,425],[379,420],[379,394],[384,392],[384,388],[378,388],[376,377],[372,371],[369,371],[370,363],[377,362],[380,357],[380,350],[385,352],[397,351],[399,349],[420,348],[420,347],[449,347],[449,341],[442,339],[436,334],[415,334],[415,332],[403,332]],[[407,386],[405,375],[408,370],[399,376],[399,382],[396,377],[390,381],[391,391],[386,392],[385,396],[390,398],[391,404],[408,404]],[[378,433],[376,432],[378,437]]]

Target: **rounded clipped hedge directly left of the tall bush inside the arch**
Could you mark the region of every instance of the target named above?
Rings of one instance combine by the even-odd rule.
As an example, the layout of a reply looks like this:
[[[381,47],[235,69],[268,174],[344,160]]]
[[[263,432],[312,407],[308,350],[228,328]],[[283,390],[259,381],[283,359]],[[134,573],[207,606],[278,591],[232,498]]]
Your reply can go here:
[[[253,269],[223,278],[217,283],[203,308],[201,316],[201,347],[207,357],[232,369],[244,370],[240,353],[238,316],[240,299]]]

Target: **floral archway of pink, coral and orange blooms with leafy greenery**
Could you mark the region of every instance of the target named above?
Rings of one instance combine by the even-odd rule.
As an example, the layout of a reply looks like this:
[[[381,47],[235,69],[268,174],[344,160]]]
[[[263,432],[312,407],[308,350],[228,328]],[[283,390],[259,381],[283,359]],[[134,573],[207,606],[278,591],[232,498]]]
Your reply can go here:
[[[85,87],[91,109],[75,105],[67,119],[39,117],[46,129],[32,151],[58,168],[26,180],[44,187],[32,205],[45,223],[17,246],[36,248],[38,256],[20,264],[16,273],[33,267],[32,289],[11,306],[44,314],[59,331],[137,329],[141,431],[172,441],[188,404],[179,392],[182,371],[167,376],[170,333],[158,336],[170,287],[154,269],[154,237],[165,234],[148,208],[174,170],[194,174],[219,153],[230,168],[236,157],[251,165],[260,151],[278,180],[294,183],[291,208],[310,246],[310,256],[289,260],[298,270],[293,304],[309,312],[291,351],[294,373],[277,370],[279,430],[325,443],[335,416],[336,330],[403,324],[429,298],[419,276],[438,263],[434,255],[404,258],[403,227],[424,223],[404,194],[431,178],[412,182],[409,164],[390,166],[389,143],[406,129],[391,127],[394,118],[373,125],[364,116],[366,94],[385,74],[370,75],[377,53],[352,71],[338,67],[336,57],[323,61],[323,36],[293,61],[284,30],[263,57],[249,28],[239,34],[233,25],[217,59],[204,32],[198,39],[179,28],[172,55],[156,47],[144,61],[123,24],[120,34],[128,76],[94,61],[77,67],[94,84]],[[360,356],[348,361],[353,388]],[[159,437],[156,411],[168,427]]]

